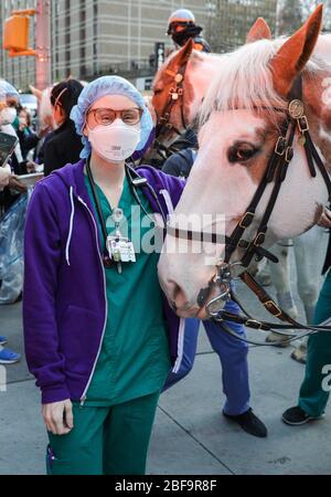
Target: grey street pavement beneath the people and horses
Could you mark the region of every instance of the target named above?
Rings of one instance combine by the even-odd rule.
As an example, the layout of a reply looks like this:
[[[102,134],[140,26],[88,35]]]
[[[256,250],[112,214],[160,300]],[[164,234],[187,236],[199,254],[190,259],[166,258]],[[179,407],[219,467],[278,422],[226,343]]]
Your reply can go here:
[[[259,307],[241,284],[238,293],[257,315]],[[297,294],[296,300],[300,306]],[[266,317],[264,311],[258,316]],[[23,353],[21,304],[0,307],[0,335]],[[282,411],[296,404],[305,371],[290,359],[291,350],[292,346],[249,351],[252,406],[269,431],[267,438],[256,438],[222,415],[221,366],[201,329],[193,371],[160,399],[148,474],[331,474],[330,408],[323,420],[299,427],[280,420]],[[39,391],[24,359],[6,371],[8,389],[0,391],[0,475],[43,475],[47,442]]]

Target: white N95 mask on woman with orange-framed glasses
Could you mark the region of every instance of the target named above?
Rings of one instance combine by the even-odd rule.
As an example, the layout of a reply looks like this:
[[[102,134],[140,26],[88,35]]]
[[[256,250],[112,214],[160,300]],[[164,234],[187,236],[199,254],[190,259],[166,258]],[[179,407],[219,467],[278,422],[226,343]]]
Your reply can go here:
[[[92,148],[109,162],[121,162],[131,157],[140,139],[140,123],[129,126],[121,119],[115,119],[109,126],[99,125],[94,129],[88,128]]]

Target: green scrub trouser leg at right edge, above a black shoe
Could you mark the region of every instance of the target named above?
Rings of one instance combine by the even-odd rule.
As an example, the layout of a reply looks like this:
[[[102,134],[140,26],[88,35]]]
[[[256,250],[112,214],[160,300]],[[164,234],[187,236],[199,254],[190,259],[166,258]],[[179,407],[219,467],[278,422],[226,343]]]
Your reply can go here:
[[[317,303],[314,324],[331,317],[331,271],[329,271]],[[322,389],[325,374],[322,369],[331,364],[331,331],[321,331],[309,337],[306,376],[299,394],[299,406],[310,416],[323,414],[330,392]]]

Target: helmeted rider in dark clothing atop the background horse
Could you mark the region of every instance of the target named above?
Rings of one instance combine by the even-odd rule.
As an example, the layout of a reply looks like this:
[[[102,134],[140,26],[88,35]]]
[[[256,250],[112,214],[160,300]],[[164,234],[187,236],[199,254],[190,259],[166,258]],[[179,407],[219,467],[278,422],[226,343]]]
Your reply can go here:
[[[210,53],[211,47],[201,35],[202,30],[200,25],[196,25],[195,17],[190,10],[179,9],[169,18],[167,34],[172,38],[178,47],[184,46],[192,38],[195,50]]]

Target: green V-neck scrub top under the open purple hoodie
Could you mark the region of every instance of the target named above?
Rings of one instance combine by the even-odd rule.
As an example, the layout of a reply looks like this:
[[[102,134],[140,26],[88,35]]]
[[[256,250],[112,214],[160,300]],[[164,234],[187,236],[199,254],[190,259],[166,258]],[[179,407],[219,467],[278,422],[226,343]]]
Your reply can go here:
[[[95,209],[100,240],[104,240],[87,177],[85,184]],[[114,234],[113,209],[102,189],[97,186],[96,189],[107,233]],[[148,199],[140,190],[137,193],[147,212],[152,214]],[[127,177],[118,207],[124,211],[119,226],[121,235],[132,242],[137,236],[138,241],[143,236],[149,239],[153,224],[146,221]],[[136,246],[135,251],[137,262],[122,263],[121,274],[117,267],[105,269],[108,316],[102,351],[86,394],[86,406],[110,406],[156,393],[162,389],[171,369],[157,272],[159,254],[142,250],[137,253]]]

